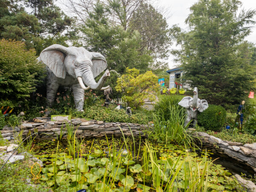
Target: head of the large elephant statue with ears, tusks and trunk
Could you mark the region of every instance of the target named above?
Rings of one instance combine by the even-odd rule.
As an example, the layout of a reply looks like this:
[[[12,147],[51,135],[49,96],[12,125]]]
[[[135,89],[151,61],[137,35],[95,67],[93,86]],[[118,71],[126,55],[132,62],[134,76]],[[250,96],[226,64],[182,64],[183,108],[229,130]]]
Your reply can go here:
[[[59,78],[65,79],[68,73],[73,78],[78,79],[84,90],[90,88],[105,90],[109,87],[102,87],[110,76],[109,70],[105,71],[98,83],[94,80],[107,68],[107,61],[100,53],[89,52],[83,47],[64,47],[54,44],[44,49],[38,60],[43,61]]]

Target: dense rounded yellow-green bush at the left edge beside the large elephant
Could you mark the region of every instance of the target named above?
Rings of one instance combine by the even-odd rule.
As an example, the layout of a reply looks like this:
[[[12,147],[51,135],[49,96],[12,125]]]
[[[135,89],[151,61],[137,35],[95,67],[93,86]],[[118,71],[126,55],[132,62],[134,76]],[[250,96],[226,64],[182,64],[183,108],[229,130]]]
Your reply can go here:
[[[17,107],[44,77],[45,67],[35,51],[20,41],[0,41],[0,105]]]

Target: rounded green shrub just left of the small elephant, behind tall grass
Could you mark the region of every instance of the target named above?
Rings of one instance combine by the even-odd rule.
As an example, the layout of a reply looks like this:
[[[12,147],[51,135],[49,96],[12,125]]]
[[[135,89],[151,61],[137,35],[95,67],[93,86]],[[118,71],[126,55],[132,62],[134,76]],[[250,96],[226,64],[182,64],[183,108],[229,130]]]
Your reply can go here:
[[[180,99],[177,96],[169,95],[164,96],[154,107],[155,112],[161,111],[161,113],[164,116],[164,119],[170,119],[170,108],[176,107],[178,109],[181,109],[182,107],[180,105],[177,105],[177,103],[180,102]]]

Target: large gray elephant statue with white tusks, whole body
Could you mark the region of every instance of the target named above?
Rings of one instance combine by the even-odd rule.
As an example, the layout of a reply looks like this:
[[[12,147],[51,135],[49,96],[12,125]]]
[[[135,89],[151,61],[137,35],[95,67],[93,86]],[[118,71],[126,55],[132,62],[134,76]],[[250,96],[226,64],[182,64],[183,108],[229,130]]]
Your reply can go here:
[[[72,87],[78,111],[83,111],[84,90],[105,90],[109,87],[102,87],[110,76],[109,70],[105,71],[98,83],[94,80],[107,68],[105,57],[98,52],[89,52],[83,47],[64,47],[54,44],[41,52],[38,61],[47,65],[49,106],[54,102],[60,85]]]

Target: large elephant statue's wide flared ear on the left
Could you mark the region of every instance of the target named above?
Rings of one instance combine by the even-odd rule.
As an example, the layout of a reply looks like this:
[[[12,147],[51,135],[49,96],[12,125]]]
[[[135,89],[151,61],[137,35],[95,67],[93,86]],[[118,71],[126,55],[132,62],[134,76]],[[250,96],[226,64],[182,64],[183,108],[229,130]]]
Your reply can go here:
[[[40,58],[46,64],[55,76],[65,79],[66,70],[64,67],[64,59],[67,54],[67,47],[54,44],[44,49]]]

